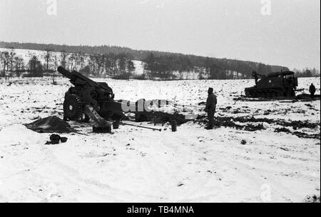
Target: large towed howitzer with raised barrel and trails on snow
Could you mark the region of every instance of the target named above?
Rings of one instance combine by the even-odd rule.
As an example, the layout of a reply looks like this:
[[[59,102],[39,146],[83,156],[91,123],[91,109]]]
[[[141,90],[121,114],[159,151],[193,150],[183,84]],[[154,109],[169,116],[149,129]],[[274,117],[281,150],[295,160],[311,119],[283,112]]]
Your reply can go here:
[[[144,99],[136,101],[135,104],[129,101],[116,101],[113,89],[108,84],[88,79],[78,71],[68,71],[59,66],[58,72],[70,79],[73,84],[66,92],[63,101],[64,120],[87,122],[92,118],[99,126],[104,126],[111,125],[108,121],[128,120],[124,113],[129,112],[135,113],[135,120],[138,122],[155,121],[157,118],[163,122],[186,121],[183,114],[149,110]]]

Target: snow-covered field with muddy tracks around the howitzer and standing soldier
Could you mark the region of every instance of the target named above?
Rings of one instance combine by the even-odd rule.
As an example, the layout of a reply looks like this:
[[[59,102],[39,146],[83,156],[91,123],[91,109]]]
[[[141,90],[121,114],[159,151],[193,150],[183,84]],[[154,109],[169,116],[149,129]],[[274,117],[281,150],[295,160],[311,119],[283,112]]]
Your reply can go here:
[[[56,81],[0,79],[0,202],[301,202],[320,196],[320,100],[235,100],[253,80],[111,80],[116,99],[188,105],[204,102],[212,86],[218,96],[215,116],[270,122],[263,121],[259,131],[223,126],[205,131],[196,121],[175,133],[168,125],[156,126],[161,132],[121,126],[113,135],[72,122],[88,136],[63,134],[66,143],[46,146],[49,133],[22,124],[62,118],[70,84]],[[320,94],[319,78],[299,79],[298,88],[307,93],[311,83]],[[202,116],[202,110],[195,106],[194,112]],[[285,128],[319,138],[275,132],[284,127],[280,121],[315,123]]]

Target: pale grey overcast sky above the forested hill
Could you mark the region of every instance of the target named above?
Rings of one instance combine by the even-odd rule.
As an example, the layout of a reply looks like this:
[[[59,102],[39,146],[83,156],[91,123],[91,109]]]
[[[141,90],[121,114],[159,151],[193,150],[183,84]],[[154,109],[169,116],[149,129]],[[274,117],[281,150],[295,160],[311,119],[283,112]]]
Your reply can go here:
[[[320,69],[320,0],[270,0],[270,10],[269,0],[56,0],[56,15],[49,15],[51,1],[0,0],[0,41],[106,44]]]

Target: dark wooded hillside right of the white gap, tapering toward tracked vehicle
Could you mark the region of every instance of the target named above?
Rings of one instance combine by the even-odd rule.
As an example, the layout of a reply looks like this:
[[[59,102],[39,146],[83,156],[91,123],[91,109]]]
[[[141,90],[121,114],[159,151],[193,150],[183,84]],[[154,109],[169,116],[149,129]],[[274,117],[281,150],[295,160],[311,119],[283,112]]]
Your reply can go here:
[[[252,72],[270,74],[274,71],[287,71],[287,67],[269,66],[250,61],[231,59],[214,59],[183,54],[153,54],[149,53],[145,62],[145,69],[161,79],[177,78],[183,71],[197,71],[198,79],[250,79]],[[173,74],[177,71],[178,74]]]

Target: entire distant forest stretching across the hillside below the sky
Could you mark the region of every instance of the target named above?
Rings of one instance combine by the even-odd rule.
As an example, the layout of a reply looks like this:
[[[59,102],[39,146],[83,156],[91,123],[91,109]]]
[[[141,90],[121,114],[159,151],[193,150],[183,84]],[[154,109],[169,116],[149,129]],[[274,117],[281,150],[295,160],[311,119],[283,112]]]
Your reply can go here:
[[[271,66],[252,61],[216,59],[212,57],[175,54],[161,51],[138,51],[120,46],[67,46],[0,41],[0,48],[12,49],[0,53],[1,75],[6,72],[31,72],[42,76],[54,72],[61,65],[69,70],[81,71],[88,76],[111,76],[114,79],[184,79],[185,74],[198,74],[198,79],[250,79],[252,71],[269,74],[287,71],[284,66]],[[14,49],[43,51],[42,56],[31,56],[27,63],[16,56]],[[41,64],[39,58],[44,64]],[[133,75],[133,61],[143,61],[144,73]],[[307,71],[308,70],[308,71]],[[315,76],[315,69],[298,71],[299,76]]]

